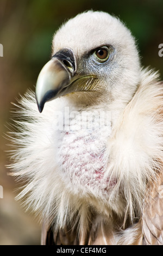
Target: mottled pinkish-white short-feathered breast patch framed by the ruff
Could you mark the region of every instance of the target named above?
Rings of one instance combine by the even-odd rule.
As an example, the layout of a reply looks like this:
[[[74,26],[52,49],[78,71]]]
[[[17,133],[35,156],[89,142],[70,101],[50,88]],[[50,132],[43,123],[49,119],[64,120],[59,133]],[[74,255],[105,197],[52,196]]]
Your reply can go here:
[[[102,111],[102,106],[96,107],[96,111],[76,111],[67,129],[60,131],[57,159],[63,180],[73,192],[84,194],[84,191],[100,190],[106,193],[109,186],[116,184],[115,179],[108,178],[105,182],[103,179],[110,131],[110,112]]]

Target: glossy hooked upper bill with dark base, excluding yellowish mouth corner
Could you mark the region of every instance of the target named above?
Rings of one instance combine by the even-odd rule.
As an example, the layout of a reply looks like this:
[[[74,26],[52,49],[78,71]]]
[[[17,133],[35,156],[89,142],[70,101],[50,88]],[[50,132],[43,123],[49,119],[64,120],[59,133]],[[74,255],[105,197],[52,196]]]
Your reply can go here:
[[[36,101],[40,113],[46,101],[65,95],[62,89],[71,83],[75,70],[74,54],[68,48],[57,52],[43,66],[36,82]]]

